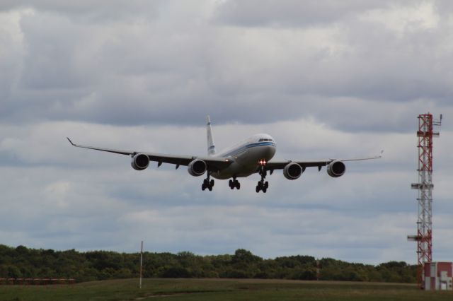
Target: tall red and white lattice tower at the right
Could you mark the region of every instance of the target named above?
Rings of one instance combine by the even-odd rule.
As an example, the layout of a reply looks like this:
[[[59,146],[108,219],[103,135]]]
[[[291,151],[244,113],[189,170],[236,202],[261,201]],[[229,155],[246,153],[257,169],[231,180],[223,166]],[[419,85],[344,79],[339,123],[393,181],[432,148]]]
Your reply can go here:
[[[412,189],[418,189],[417,235],[409,235],[408,240],[417,242],[420,288],[424,283],[423,265],[432,262],[432,138],[439,136],[433,127],[440,126],[441,122],[442,114],[439,120],[432,119],[430,113],[418,115],[418,183],[411,184]]]

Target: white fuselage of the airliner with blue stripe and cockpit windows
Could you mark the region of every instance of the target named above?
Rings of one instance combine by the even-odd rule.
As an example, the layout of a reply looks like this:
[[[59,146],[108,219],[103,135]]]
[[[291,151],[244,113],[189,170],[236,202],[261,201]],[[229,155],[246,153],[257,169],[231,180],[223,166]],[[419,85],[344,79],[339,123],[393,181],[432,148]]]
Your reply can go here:
[[[258,172],[260,165],[267,163],[275,155],[277,145],[268,134],[256,134],[241,143],[228,148],[214,157],[229,158],[233,161],[229,167],[219,172],[212,172],[216,179],[248,177]]]

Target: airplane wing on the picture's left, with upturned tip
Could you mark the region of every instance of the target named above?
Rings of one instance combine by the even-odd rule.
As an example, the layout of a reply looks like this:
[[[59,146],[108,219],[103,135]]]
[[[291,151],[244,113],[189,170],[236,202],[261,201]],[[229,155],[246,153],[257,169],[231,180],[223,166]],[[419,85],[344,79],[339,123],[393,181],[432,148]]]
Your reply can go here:
[[[72,146],[75,146],[77,148],[88,148],[91,150],[95,151],[105,151],[108,153],[117,153],[120,155],[130,155],[131,157],[134,157],[134,155],[137,155],[138,153],[147,155],[150,161],[154,161],[158,163],[158,167],[162,163],[169,163],[169,164],[174,164],[176,165],[176,168],[178,168],[180,165],[187,166],[189,163],[191,163],[195,159],[200,159],[205,161],[207,164],[207,169],[210,171],[217,171],[217,170],[222,170],[225,167],[228,167],[231,164],[231,160],[228,160],[227,158],[219,158],[219,157],[204,157],[204,156],[193,156],[193,155],[168,155],[164,153],[147,153],[147,152],[139,152],[139,151],[125,151],[125,150],[116,150],[112,148],[98,148],[95,146],[82,146],[80,144],[73,143],[71,139],[67,137],[69,143],[71,143]]]

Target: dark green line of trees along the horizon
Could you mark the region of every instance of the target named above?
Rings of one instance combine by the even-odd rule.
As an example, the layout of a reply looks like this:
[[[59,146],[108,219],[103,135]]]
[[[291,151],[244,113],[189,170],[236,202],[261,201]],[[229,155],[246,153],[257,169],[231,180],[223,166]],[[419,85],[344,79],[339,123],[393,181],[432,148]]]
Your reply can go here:
[[[139,276],[139,253],[29,249],[0,244],[0,278],[75,278],[78,282]],[[143,254],[145,278],[273,278],[415,283],[416,266],[390,261],[377,266],[314,256],[263,259],[246,249],[200,256],[191,252]]]

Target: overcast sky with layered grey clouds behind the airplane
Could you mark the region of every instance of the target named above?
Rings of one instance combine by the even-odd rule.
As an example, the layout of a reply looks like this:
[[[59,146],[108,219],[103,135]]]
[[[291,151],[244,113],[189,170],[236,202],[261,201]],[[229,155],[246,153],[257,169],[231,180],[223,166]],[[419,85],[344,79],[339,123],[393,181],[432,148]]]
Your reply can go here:
[[[0,244],[306,254],[415,264],[418,114],[434,141],[433,259],[453,249],[453,4],[3,0]],[[75,143],[205,155],[256,133],[278,159],[377,155],[241,190]]]

